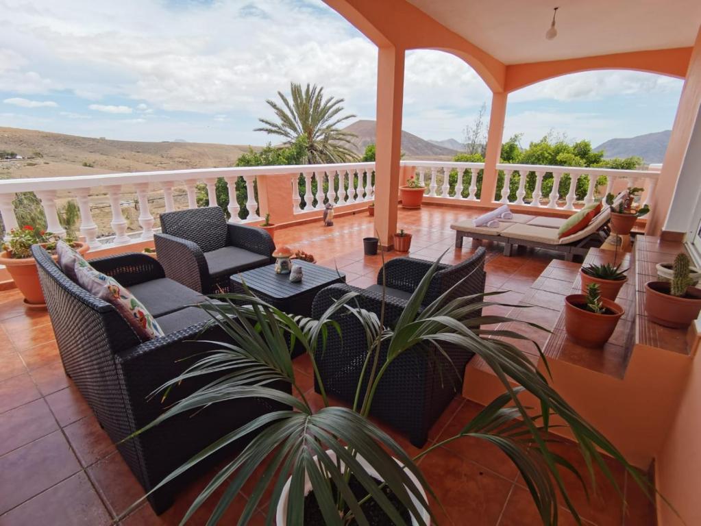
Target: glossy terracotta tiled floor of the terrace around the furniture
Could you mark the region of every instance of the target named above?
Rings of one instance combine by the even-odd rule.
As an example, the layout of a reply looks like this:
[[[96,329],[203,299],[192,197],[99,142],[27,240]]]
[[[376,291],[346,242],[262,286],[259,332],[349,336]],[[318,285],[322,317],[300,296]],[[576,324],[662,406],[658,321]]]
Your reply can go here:
[[[400,212],[400,228],[414,234],[411,256],[443,261],[463,260],[474,250],[469,244],[454,249],[451,221],[469,216],[464,209],[424,207]],[[311,223],[280,230],[278,245],[311,252],[319,263],[337,265],[348,283],[374,283],[381,257],[364,257],[362,237],[372,235],[367,213],[336,218],[332,228]],[[395,257],[398,254],[387,254]],[[489,246],[488,290],[509,290],[505,303],[518,303],[533,281],[550,263],[553,254],[526,251],[505,258],[499,247]],[[490,307],[494,313],[508,309]],[[116,452],[81,395],[65,377],[46,312],[25,310],[16,291],[0,293],[0,526],[9,525],[108,525],[142,495],[134,476]],[[297,373],[315,396],[308,364],[297,360]],[[479,406],[461,397],[451,403],[430,434],[430,442],[451,436],[468,422]],[[391,430],[389,430],[392,432]],[[396,435],[395,435],[396,436]],[[404,438],[397,439],[416,452]],[[557,446],[580,469],[583,462],[571,445]],[[654,525],[651,506],[635,491],[629,478],[611,466],[629,501],[624,513],[615,491],[603,484],[587,502],[573,477],[564,475],[566,487],[587,525]],[[529,493],[515,467],[494,446],[464,439],[440,448],[421,461],[442,508],[433,507],[442,525],[521,526],[540,521]],[[601,480],[601,478],[599,478]],[[193,484],[177,504],[160,517],[147,505],[119,522],[125,526],[177,524],[205,480]],[[233,524],[243,509],[246,488],[227,513]],[[191,524],[204,524],[208,503]],[[259,511],[254,524],[264,523]],[[562,510],[561,525],[575,521]]]

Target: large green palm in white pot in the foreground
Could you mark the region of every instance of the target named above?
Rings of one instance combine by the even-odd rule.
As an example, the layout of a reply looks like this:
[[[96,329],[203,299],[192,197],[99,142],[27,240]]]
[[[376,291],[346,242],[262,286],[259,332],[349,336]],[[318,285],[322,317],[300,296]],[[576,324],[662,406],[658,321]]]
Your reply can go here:
[[[339,292],[336,301],[317,319],[290,316],[250,294],[218,295],[214,297],[220,303],[201,305],[212,315],[212,323],[222,328],[230,340],[219,343],[219,349],[205,353],[182,375],[156,389],[154,394],[163,394],[168,408],[139,433],[170,417],[193,413],[219,401],[263,398],[284,403],[289,409],[262,415],[239,429],[232,429],[154,488],[157,490],[237,439],[250,438],[236,458],[225,464],[193,501],[183,523],[215,491],[221,498],[208,524],[217,523],[243,485],[251,480],[240,525],[250,521],[264,494],[269,498],[265,511],[267,524],[428,525],[435,517],[427,495],[434,492],[417,462],[436,448],[464,437],[491,443],[508,456],[529,489],[543,524],[557,524],[561,505],[579,522],[561,470],[576,473],[583,485],[584,480],[566,459],[550,450],[552,420],[557,420],[558,427],[566,427],[574,437],[592,481],[594,466],[599,466],[620,491],[604,460],[606,454],[620,462],[632,480],[646,494],[651,494],[651,488],[638,471],[562,399],[531,359],[507,340],[494,336],[527,338],[515,331],[485,327],[513,321],[507,317],[477,315],[482,308],[497,305],[487,300],[496,293],[447,300],[451,297],[451,291],[447,291],[428,305],[422,305],[438,268],[438,263],[430,267],[406,307],[391,322],[386,319],[384,301],[379,314],[368,312],[360,307],[362,298],[355,291]],[[460,285],[458,282],[455,286]],[[329,403],[316,360],[325,351],[329,333],[341,331],[339,320],[343,317],[357,320],[366,335],[367,354],[350,407]],[[308,354],[320,401],[308,399],[308,393],[299,383],[290,357],[294,345],[304,347]],[[407,352],[428,353],[437,359],[445,355],[442,350],[445,345],[474,352],[483,359],[503,383],[504,393],[472,420],[464,422],[458,434],[410,457],[369,420],[373,399],[397,359]],[[536,348],[540,351],[537,345]],[[542,352],[540,357],[547,364]],[[459,377],[462,371],[454,374]],[[191,380],[206,385],[179,401],[166,398]],[[273,388],[275,382],[290,385],[292,394]]]

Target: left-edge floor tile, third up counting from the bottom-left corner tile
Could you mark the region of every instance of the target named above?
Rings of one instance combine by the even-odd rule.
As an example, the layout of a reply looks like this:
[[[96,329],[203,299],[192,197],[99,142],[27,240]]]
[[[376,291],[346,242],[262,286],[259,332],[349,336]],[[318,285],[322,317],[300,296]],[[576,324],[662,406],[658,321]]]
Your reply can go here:
[[[35,400],[0,415],[0,455],[56,431],[46,402]]]

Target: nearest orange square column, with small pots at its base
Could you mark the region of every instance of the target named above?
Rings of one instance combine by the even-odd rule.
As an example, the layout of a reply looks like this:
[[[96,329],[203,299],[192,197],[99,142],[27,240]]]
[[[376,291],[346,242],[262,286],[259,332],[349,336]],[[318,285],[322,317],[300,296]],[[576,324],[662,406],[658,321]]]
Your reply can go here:
[[[377,55],[377,127],[375,229],[380,244],[392,249],[397,231],[397,198],[402,155],[404,50],[379,48]]]

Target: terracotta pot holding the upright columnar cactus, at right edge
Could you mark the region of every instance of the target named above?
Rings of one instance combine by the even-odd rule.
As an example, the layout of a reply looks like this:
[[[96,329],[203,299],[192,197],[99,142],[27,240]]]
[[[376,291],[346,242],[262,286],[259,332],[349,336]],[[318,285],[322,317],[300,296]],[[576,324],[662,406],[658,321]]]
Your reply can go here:
[[[690,286],[686,295],[672,296],[671,284],[648,282],[645,284],[645,311],[656,324],[672,328],[686,328],[701,312],[701,289]]]

